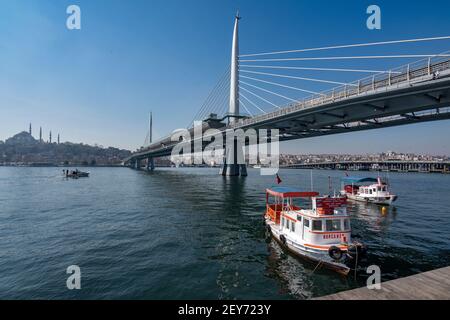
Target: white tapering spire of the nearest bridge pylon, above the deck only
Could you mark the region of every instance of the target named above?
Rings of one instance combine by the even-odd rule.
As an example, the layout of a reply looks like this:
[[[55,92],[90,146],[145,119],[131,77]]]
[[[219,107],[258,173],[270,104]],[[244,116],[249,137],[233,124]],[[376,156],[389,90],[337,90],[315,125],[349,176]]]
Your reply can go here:
[[[236,14],[233,31],[233,45],[231,49],[231,79],[230,79],[230,116],[239,115],[239,11]],[[236,121],[231,117],[230,123]]]

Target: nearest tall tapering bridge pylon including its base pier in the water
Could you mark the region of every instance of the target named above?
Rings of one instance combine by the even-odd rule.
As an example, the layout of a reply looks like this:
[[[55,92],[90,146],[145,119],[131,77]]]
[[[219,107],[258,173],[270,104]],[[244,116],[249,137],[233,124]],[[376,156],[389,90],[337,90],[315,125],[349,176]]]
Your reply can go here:
[[[231,77],[230,77],[230,107],[228,110],[228,119],[230,123],[234,123],[239,119],[239,12],[236,14],[234,21],[233,43],[231,48]],[[239,164],[238,152],[243,153],[242,148],[238,148],[238,142],[234,139],[232,145],[226,145],[224,148],[224,162],[220,169],[223,176],[246,176],[247,167]]]

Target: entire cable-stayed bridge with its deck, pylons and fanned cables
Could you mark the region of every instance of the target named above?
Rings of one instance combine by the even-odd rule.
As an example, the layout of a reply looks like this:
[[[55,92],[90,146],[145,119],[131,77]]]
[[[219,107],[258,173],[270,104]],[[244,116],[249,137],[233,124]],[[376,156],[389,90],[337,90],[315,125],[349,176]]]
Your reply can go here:
[[[394,44],[445,41],[446,37],[395,40],[339,45],[289,51],[239,55],[239,20],[236,17],[231,66],[194,116],[204,121],[203,131],[214,128],[223,133],[231,129],[278,129],[279,141],[302,139],[412,123],[450,119],[450,54],[397,54],[362,56],[303,56],[348,48],[370,48]],[[301,56],[296,56],[300,54]],[[293,62],[374,61],[414,59],[388,70],[335,66],[292,66]],[[288,72],[288,73],[286,73]],[[293,74],[295,72],[295,74]],[[369,74],[356,81],[336,81],[305,76],[304,72]],[[300,73],[300,75],[298,74]],[[287,82],[289,81],[289,82]],[[331,86],[313,91],[292,82],[312,82]],[[307,95],[306,97],[293,94]],[[267,110],[267,106],[271,110]],[[124,161],[153,170],[153,159],[168,156],[178,141],[171,136],[151,140],[151,121],[146,144]],[[224,146],[225,157],[227,149]],[[224,175],[245,175],[245,166],[224,164]]]

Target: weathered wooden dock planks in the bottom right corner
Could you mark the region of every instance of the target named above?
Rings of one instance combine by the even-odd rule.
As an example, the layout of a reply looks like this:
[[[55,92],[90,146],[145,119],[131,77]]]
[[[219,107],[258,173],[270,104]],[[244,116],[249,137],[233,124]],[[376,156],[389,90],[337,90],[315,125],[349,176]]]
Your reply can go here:
[[[315,300],[450,300],[450,267],[382,282],[380,290],[364,287]]]

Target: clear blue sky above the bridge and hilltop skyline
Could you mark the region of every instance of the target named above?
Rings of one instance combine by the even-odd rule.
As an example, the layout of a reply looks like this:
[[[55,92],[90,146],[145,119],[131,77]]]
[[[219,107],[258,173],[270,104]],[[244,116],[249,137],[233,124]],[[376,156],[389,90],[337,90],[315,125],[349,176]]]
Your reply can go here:
[[[66,28],[70,4],[81,7],[81,30]],[[381,30],[366,28],[370,4],[381,7]],[[240,48],[245,54],[450,35],[450,3],[433,1],[433,8],[429,1],[0,0],[0,140],[32,122],[35,136],[42,126],[45,136],[51,129],[53,136],[61,133],[63,141],[132,149],[144,142],[150,110],[156,137],[185,127],[230,63],[237,9],[243,16]],[[449,49],[446,40],[303,56],[434,54]],[[414,60],[301,66],[388,69]],[[351,81],[367,74],[297,75]],[[330,88],[296,85],[313,91]],[[450,136],[449,124],[305,139],[283,144],[282,151],[449,155],[448,139],[436,139]]]

